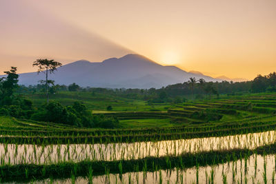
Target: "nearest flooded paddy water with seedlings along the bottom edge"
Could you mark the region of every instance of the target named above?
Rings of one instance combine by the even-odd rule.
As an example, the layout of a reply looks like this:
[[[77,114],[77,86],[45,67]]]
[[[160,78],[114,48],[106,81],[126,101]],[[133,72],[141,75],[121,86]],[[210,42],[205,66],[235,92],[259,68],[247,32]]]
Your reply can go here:
[[[266,163],[266,165],[264,164]],[[265,172],[266,171],[266,172]],[[198,174],[197,174],[198,173]],[[94,176],[93,183],[274,183],[275,155],[253,155],[229,163],[191,167],[186,170],[157,170]],[[160,179],[161,178],[161,179]],[[88,183],[88,178],[50,179],[33,183]],[[276,181],[275,181],[276,182]]]

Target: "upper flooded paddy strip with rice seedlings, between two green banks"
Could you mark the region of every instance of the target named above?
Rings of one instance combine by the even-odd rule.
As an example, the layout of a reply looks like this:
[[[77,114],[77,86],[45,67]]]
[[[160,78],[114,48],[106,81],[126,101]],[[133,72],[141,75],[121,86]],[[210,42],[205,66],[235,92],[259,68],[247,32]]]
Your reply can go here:
[[[141,159],[146,156],[179,155],[186,152],[229,150],[275,143],[276,132],[268,131],[235,136],[181,139],[141,143],[80,145],[14,145],[0,144],[1,165],[19,163],[58,163],[61,161],[115,161]]]

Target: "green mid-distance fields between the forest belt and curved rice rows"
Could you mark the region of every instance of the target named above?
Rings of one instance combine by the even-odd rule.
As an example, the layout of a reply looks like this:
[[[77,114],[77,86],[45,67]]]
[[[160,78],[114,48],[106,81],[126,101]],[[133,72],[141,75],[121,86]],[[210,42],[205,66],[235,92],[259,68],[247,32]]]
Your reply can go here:
[[[25,94],[29,99],[34,101],[34,105],[39,107],[45,103],[44,94]],[[146,113],[164,112],[167,117],[164,119],[172,118],[173,121],[168,121],[162,124],[161,127],[173,122],[173,125],[186,125],[186,123],[206,122],[206,119],[197,119],[193,116],[195,112],[202,112],[206,109],[219,110],[222,118],[217,122],[236,121],[242,120],[247,117],[262,116],[263,114],[273,114],[276,112],[275,94],[245,94],[242,96],[226,96],[221,95],[219,99],[210,100],[195,100],[186,103],[154,103],[148,104],[146,101],[138,99],[127,99],[116,94],[100,94],[92,92],[59,92],[52,94],[50,99],[57,100],[63,105],[72,105],[74,101],[81,101],[84,103],[88,110],[93,114],[106,114],[106,116],[117,116],[121,119],[121,127],[138,127],[140,123],[137,119],[142,118],[133,116],[135,112],[144,114],[143,119],[152,119],[152,121],[160,121],[160,117],[148,116]],[[107,111],[108,105],[112,106],[111,111]],[[237,112],[236,114],[229,114],[230,112]],[[129,113],[128,116],[122,116],[122,113]],[[114,114],[116,113],[116,114]],[[170,116],[170,117],[168,117]],[[176,119],[177,117],[177,119]],[[185,118],[184,118],[185,117]],[[135,119],[135,121],[133,121]],[[158,120],[157,120],[158,119]],[[126,123],[125,120],[129,120]],[[149,126],[152,127],[153,123],[149,121]],[[132,122],[132,123],[130,123]],[[152,125],[151,125],[152,124]],[[159,124],[156,124],[159,127]]]

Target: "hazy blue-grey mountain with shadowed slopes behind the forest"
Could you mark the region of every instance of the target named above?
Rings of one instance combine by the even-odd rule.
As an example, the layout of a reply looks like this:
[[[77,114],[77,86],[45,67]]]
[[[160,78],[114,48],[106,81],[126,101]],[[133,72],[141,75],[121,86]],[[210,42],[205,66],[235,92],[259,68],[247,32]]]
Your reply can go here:
[[[190,77],[221,81],[201,73],[186,72],[172,65],[159,65],[138,54],[110,58],[99,63],[75,61],[57,68],[55,74],[50,74],[49,79],[54,80],[56,84],[77,83],[83,87],[161,88],[174,83],[183,83]],[[44,78],[43,72],[23,73],[19,74],[19,84],[36,85]]]

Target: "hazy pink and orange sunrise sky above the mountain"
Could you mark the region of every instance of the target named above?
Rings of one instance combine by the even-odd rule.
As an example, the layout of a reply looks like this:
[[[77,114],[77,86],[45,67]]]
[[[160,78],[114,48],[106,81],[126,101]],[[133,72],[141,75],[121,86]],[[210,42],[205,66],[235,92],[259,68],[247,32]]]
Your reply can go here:
[[[275,0],[1,0],[0,74],[137,53],[204,74],[276,71]]]

